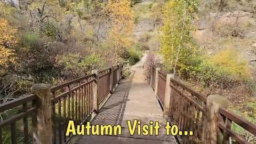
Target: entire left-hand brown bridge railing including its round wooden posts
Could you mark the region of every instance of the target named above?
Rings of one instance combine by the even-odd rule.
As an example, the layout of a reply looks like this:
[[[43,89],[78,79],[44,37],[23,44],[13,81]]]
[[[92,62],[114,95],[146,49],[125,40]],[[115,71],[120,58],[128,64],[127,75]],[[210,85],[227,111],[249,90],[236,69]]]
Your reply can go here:
[[[98,113],[99,105],[121,81],[123,66],[124,63],[93,70],[90,75],[53,87],[38,84],[31,87],[34,94],[0,104],[0,114],[14,110],[17,113],[1,117],[0,144],[67,143],[73,136],[66,136],[68,122],[80,125]],[[2,137],[6,133],[10,133],[11,140]],[[18,135],[23,139],[17,140]]]

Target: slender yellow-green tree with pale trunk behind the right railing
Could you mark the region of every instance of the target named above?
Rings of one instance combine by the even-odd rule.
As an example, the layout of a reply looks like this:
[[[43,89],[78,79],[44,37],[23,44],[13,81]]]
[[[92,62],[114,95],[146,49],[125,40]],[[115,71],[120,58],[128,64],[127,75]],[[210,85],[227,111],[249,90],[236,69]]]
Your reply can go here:
[[[171,0],[164,5],[164,26],[161,53],[165,67],[179,73],[189,68],[191,57],[195,57],[196,45],[189,35],[193,29],[190,19],[196,10],[197,1]]]

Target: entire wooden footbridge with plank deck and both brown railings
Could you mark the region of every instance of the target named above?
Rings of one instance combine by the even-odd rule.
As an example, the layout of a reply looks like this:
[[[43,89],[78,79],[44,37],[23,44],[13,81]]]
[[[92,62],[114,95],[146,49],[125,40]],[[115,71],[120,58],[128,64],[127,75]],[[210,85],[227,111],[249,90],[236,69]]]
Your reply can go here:
[[[93,70],[53,87],[37,84],[32,94],[0,104],[1,114],[16,111],[0,123],[0,143],[255,143],[256,125],[229,111],[226,98],[206,98],[153,66],[149,85],[142,77],[143,62],[145,57],[131,69],[124,62]],[[125,70],[131,75],[123,79]],[[76,127],[120,125],[122,134],[66,135],[70,120]],[[137,122],[134,134],[127,121]]]

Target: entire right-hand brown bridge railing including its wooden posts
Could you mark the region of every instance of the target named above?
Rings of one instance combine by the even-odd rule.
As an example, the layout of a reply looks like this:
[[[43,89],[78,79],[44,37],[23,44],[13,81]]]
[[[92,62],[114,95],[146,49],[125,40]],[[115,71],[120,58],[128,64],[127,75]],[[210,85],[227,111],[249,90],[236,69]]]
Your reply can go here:
[[[191,135],[178,133],[181,143],[255,143],[255,124],[224,105],[217,108],[220,106],[217,106],[218,102],[226,98],[220,95],[215,101],[210,99],[211,95],[206,98],[159,68],[151,67],[151,79],[150,84],[164,109],[164,117],[172,125],[177,125],[179,131],[193,131]],[[235,131],[234,127],[240,127],[245,133]]]

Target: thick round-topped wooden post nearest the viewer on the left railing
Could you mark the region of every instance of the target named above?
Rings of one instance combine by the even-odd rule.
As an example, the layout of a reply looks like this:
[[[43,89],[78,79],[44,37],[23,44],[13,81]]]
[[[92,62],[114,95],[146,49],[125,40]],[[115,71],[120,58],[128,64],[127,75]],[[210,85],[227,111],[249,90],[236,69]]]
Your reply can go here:
[[[50,85],[36,84],[31,92],[37,95],[36,118],[33,123],[34,143],[52,143],[51,93]]]

